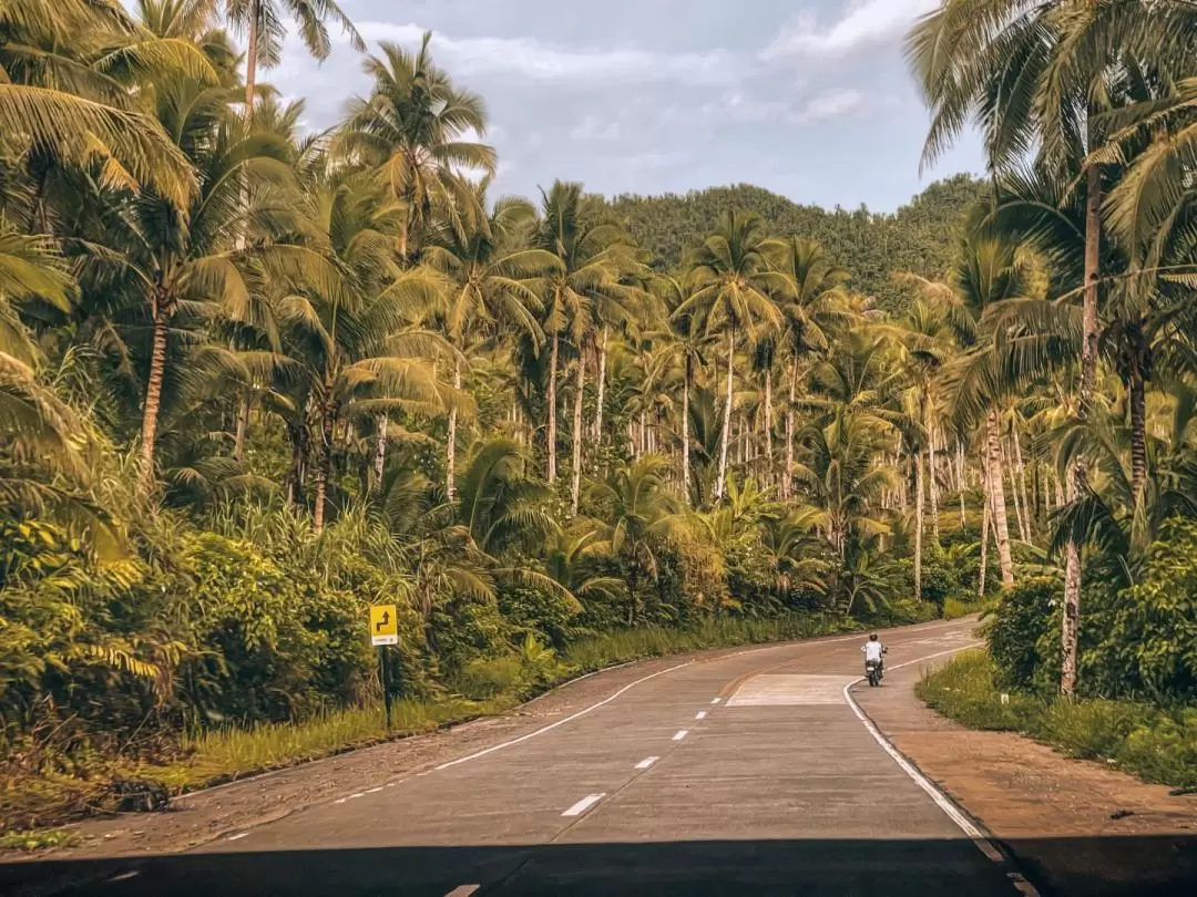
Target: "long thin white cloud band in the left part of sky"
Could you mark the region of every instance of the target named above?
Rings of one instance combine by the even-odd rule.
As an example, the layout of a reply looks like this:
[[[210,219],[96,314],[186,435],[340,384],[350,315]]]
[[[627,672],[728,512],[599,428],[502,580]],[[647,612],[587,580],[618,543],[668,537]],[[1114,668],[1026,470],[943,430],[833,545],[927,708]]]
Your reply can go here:
[[[409,24],[364,22],[358,30],[367,42],[393,41],[413,45],[424,29]],[[652,53],[633,49],[575,49],[534,37],[462,37],[436,32],[432,49],[438,62],[455,75],[514,75],[529,81],[578,81],[596,85],[642,83],[724,84],[737,78],[742,60],[727,50]]]

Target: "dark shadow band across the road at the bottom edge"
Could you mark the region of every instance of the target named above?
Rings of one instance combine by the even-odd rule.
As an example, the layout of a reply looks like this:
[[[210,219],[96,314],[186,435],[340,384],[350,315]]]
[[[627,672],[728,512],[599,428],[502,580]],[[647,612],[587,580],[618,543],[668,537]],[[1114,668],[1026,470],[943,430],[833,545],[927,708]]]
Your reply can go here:
[[[369,825],[369,823],[366,823]],[[1014,843],[1055,858],[1045,895],[1197,892],[1197,837],[1076,838]],[[1101,861],[1138,862],[1116,880]],[[1061,868],[1064,874],[1058,874]],[[1010,867],[959,841],[691,841],[535,847],[402,847],[182,854],[0,866],[0,893],[26,895],[961,895],[1016,893]],[[1026,869],[1025,869],[1026,871]],[[1037,875],[1032,869],[1032,879]],[[463,887],[466,886],[466,887]],[[1040,886],[1043,883],[1040,881]]]

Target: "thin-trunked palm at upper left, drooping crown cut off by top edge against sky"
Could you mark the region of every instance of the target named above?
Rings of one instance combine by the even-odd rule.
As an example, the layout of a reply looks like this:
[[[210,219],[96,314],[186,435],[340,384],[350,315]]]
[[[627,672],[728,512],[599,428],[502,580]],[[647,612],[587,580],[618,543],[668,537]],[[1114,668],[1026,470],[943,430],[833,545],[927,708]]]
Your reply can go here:
[[[215,0],[190,0],[190,5],[211,7]],[[350,44],[358,53],[366,49],[361,35],[341,12],[335,0],[220,0],[233,28],[248,33],[245,48],[245,116],[254,115],[254,93],[257,89],[257,67],[273,68],[282,60],[282,41],[287,35],[285,19],[299,24],[299,38],[317,61],[323,62],[333,51],[328,38],[328,23],[340,25]]]

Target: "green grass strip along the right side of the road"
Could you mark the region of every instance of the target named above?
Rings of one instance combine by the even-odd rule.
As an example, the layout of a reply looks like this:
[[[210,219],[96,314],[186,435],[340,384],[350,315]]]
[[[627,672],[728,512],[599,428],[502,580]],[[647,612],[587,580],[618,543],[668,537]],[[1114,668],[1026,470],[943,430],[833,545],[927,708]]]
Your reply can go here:
[[[1102,761],[1148,782],[1197,788],[1197,707],[1005,694],[984,651],[930,671],[916,691],[970,728],[1019,732],[1080,759]]]

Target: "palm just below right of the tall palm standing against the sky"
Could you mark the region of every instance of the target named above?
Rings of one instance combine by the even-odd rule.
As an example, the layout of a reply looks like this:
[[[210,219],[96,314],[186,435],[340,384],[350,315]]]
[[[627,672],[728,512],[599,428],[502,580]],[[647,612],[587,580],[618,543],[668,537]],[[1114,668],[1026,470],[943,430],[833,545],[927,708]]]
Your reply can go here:
[[[486,183],[474,200],[487,208]],[[516,249],[522,227],[535,218],[523,200],[500,200],[485,219],[446,224],[425,249],[425,261],[449,280],[440,318],[454,360],[454,389],[461,389],[461,358],[475,336],[497,338],[512,330],[527,334],[535,346],[545,341],[536,319],[541,279],[560,262],[540,249]],[[445,447],[445,494],[454,498],[456,478],[457,409],[449,411]]]

